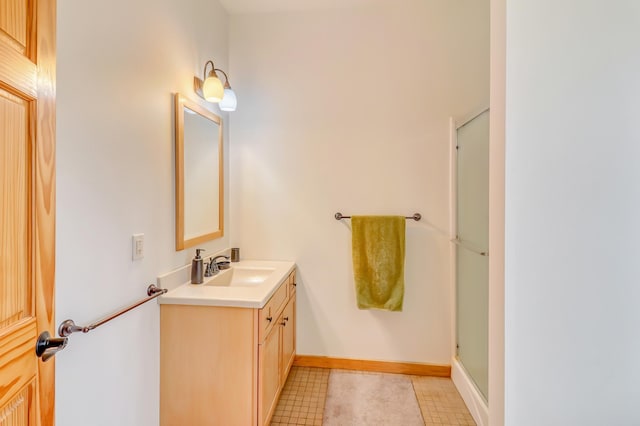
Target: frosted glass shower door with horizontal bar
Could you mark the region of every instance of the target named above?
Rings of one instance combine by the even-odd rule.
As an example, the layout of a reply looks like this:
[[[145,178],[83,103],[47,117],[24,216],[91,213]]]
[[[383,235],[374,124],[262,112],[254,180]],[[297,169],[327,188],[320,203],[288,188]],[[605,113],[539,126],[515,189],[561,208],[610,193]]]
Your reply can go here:
[[[457,128],[457,355],[488,400],[489,111]]]

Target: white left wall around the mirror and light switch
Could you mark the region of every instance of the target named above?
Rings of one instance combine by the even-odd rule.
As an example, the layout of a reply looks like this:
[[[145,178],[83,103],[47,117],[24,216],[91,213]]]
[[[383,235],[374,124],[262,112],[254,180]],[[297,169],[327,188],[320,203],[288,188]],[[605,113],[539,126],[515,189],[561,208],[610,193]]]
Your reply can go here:
[[[227,68],[227,34],[212,0],[58,2],[56,324],[124,307],[192,257],[175,252],[172,93],[195,99],[208,59]],[[134,233],[146,249],[135,262]],[[150,302],[70,337],[58,425],[158,424],[158,321]]]

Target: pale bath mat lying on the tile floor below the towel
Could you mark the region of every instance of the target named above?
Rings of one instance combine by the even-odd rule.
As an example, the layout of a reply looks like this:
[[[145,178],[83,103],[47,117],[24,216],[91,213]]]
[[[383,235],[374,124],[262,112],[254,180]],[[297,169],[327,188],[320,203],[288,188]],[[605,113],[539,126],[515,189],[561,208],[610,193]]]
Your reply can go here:
[[[323,426],[423,426],[411,379],[331,370]]]

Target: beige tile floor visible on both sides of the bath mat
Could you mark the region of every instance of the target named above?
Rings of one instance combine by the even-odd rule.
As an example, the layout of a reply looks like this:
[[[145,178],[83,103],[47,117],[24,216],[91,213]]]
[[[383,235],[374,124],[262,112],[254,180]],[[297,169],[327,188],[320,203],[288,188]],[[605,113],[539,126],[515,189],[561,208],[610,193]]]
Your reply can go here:
[[[330,372],[325,368],[293,367],[271,425],[321,426]],[[411,382],[425,425],[475,426],[451,379],[411,376]]]

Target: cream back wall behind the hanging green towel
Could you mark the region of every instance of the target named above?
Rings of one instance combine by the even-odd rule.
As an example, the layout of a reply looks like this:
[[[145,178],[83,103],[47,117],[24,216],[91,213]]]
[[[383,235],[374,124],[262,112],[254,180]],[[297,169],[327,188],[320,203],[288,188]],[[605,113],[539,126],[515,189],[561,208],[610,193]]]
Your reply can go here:
[[[297,262],[298,352],[449,364],[450,116],[488,103],[488,2],[231,17],[231,243]],[[359,311],[349,221],[408,222],[402,313]]]

